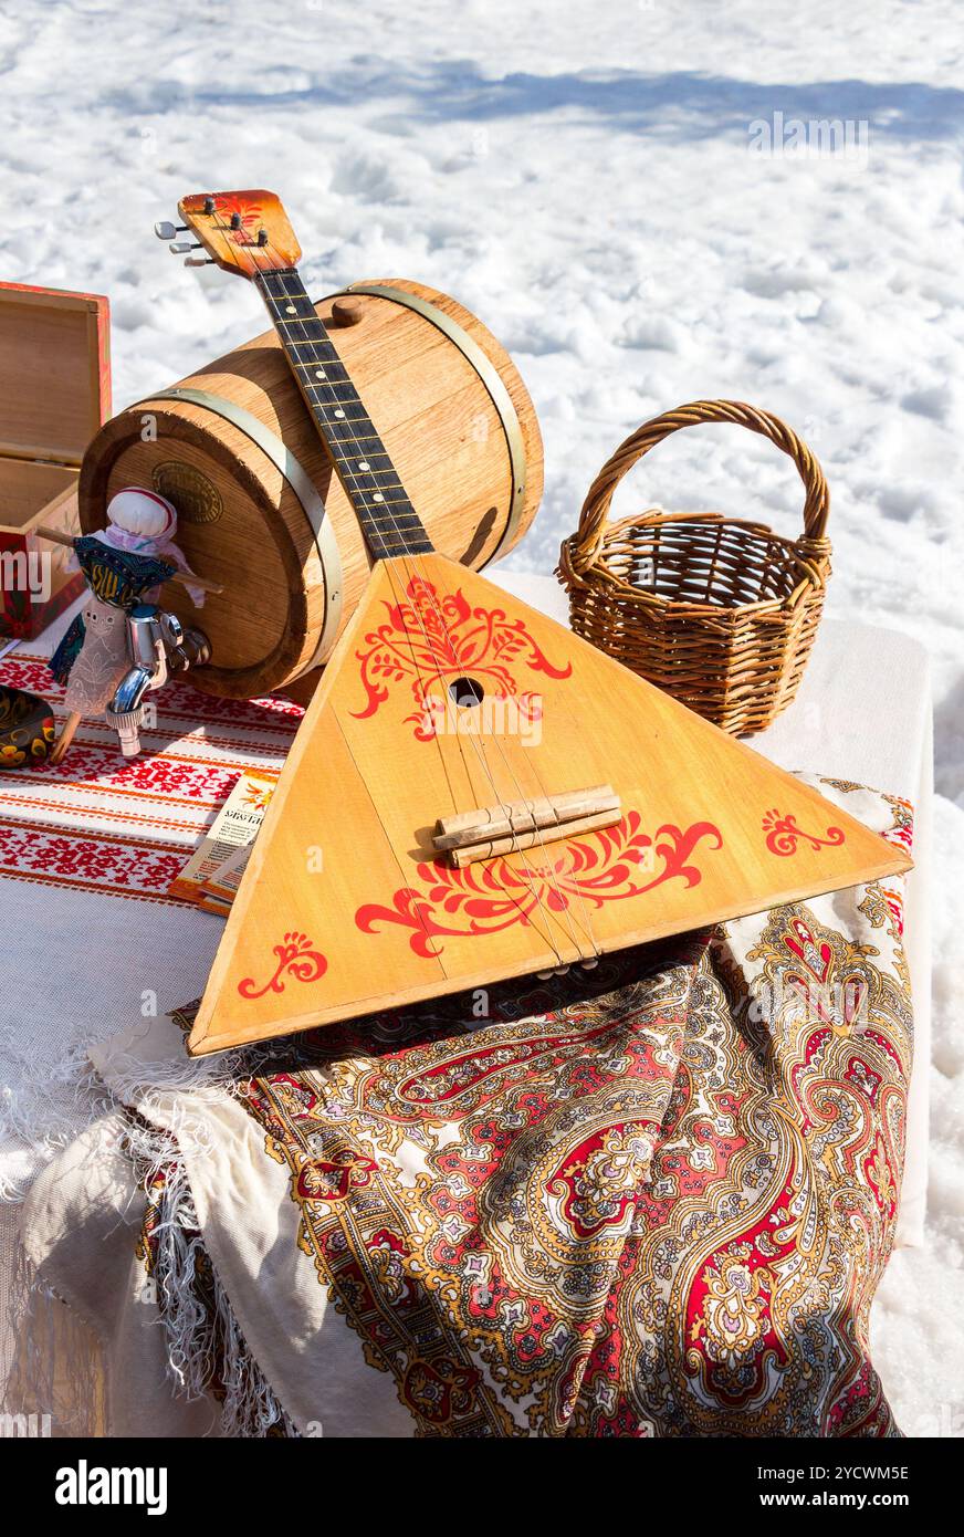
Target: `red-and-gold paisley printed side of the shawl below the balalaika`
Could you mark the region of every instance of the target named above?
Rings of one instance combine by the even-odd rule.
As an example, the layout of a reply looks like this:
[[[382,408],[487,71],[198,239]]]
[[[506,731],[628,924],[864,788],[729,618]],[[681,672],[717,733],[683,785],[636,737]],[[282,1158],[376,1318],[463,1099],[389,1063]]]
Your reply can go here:
[[[334,1027],[241,1085],[418,1434],[899,1434],[867,1316],[912,1014],[890,901],[847,899],[504,984],[478,1028],[464,999]]]

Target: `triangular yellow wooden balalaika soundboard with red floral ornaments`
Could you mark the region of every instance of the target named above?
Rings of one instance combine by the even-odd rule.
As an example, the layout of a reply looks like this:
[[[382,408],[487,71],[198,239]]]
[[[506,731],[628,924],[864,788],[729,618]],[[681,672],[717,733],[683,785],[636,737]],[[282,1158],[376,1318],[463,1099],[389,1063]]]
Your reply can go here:
[[[455,729],[460,676],[484,689],[481,736]],[[603,782],[620,795],[612,828],[463,870],[432,858],[440,816]],[[189,1050],[486,987],[909,865],[475,572],[440,555],[380,561],[268,808]]]

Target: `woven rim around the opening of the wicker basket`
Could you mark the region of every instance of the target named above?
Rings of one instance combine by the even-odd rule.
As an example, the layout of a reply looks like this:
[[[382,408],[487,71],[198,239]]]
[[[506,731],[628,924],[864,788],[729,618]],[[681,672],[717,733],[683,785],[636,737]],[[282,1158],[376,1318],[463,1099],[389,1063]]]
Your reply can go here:
[[[606,563],[606,550],[620,543],[621,533],[626,529],[658,529],[667,523],[712,524],[716,527],[738,529],[744,536],[747,533],[756,535],[761,539],[766,539],[767,544],[780,547],[784,566],[795,569],[799,581],[792,592],[784,593],[783,598],[760,598],[755,603],[716,604],[666,598],[663,593],[647,592],[646,587],[635,587],[617,572],[610,570]],[[569,552],[575,541],[577,536],[570,535],[563,541],[563,549]],[[826,543],[829,546],[829,541]],[[593,579],[597,579],[610,589],[615,596],[620,596],[627,603],[637,603],[641,607],[660,612],[672,609],[681,619],[720,622],[723,615],[750,615],[756,619],[767,619],[769,616],[776,618],[787,610],[796,609],[806,595],[816,593],[826,586],[830,570],[830,555],[827,550],[827,555],[809,559],[799,550],[799,539],[792,539],[783,533],[776,533],[766,523],[747,518],[733,518],[723,512],[663,512],[660,507],[650,507],[644,513],[630,513],[626,518],[607,523],[606,532],[603,533],[590,564],[584,566],[581,570],[577,570],[575,567],[572,567],[572,570],[580,586],[590,587]]]

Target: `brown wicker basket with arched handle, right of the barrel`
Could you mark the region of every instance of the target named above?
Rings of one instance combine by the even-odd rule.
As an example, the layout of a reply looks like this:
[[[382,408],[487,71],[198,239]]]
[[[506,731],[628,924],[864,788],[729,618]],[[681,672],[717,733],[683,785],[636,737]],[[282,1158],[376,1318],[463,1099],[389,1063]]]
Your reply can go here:
[[[606,523],[626,472],[670,432],[704,421],[761,432],[790,455],[807,493],[803,538],[715,512]],[[603,466],[563,544],[572,627],[726,732],[761,732],[792,701],[810,655],[830,575],[829,507],[819,464],[766,410],[700,400],[655,417]]]

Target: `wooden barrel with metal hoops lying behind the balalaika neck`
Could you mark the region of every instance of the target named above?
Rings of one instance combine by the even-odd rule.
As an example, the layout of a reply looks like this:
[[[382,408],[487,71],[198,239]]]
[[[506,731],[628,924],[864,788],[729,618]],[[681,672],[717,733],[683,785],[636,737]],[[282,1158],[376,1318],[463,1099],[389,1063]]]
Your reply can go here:
[[[477,570],[535,516],[543,446],[507,352],[475,315],[420,283],[357,283],[317,306],[435,549]],[[129,406],[91,443],[80,521],[101,529],[123,486],[168,496],[191,567],[223,583],[195,610],[208,693],[304,699],[367,579],[371,556],[272,330]]]

